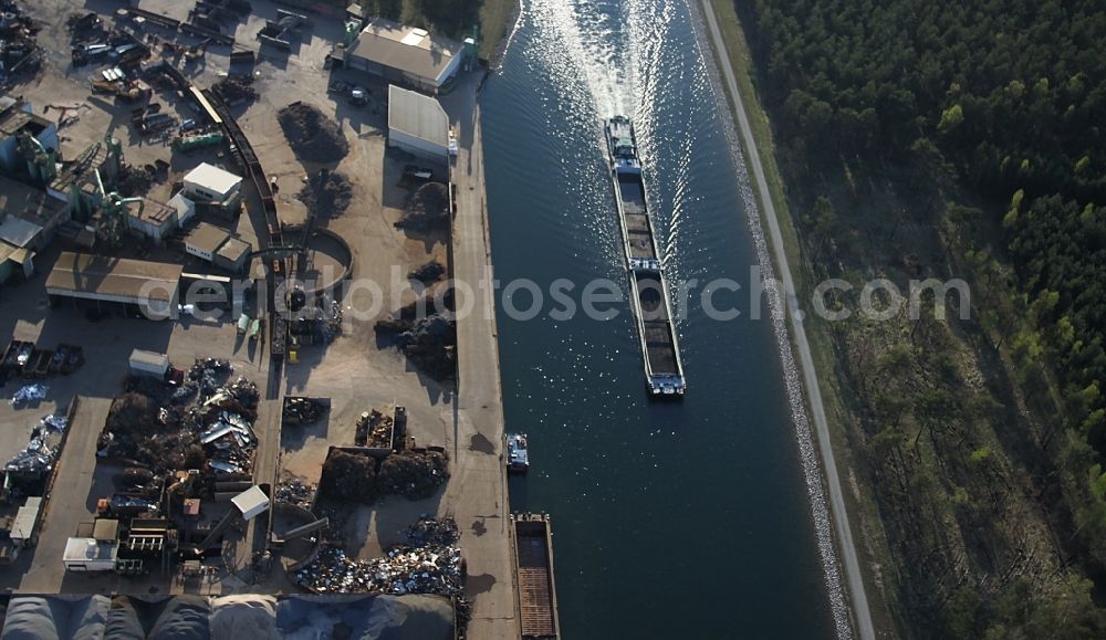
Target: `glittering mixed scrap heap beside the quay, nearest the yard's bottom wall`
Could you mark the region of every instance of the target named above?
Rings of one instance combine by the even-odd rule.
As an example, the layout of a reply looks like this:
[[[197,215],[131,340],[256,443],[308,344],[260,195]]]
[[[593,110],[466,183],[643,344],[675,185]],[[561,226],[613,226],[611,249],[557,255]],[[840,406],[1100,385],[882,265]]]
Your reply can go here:
[[[453,518],[424,516],[408,529],[407,544],[382,558],[357,560],[341,548],[326,547],[293,575],[303,589],[317,594],[436,594],[459,596],[465,581],[460,534]]]

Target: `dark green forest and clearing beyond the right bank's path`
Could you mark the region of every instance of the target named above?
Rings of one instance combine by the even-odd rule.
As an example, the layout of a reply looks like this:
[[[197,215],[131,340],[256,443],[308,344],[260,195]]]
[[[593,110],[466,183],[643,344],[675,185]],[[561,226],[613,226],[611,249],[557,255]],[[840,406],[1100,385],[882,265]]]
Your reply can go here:
[[[815,277],[972,285],[826,328],[898,632],[1104,637],[1106,6],[734,7]]]

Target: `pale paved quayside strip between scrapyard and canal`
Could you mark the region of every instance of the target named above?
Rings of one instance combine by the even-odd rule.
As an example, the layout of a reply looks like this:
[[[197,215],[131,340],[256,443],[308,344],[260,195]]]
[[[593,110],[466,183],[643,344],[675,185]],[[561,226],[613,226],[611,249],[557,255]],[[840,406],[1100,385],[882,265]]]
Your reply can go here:
[[[476,104],[480,72],[460,81],[442,104],[458,134],[453,166],[457,217],[453,222],[453,277],[471,286],[472,312],[465,314],[458,293],[458,400],[455,403],[453,476],[445,511],[457,518],[459,546],[468,565],[473,640],[519,638],[514,606],[514,564],[508,522],[507,485],[500,458],[503,403],[500,387],[493,292],[478,286],[491,282],[491,245],[484,207],[480,111]]]

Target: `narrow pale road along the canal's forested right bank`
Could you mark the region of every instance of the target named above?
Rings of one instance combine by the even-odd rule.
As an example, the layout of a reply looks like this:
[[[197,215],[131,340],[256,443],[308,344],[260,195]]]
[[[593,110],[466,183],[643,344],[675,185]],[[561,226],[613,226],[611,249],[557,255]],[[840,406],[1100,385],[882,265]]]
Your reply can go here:
[[[750,169],[757,182],[757,191],[760,193],[761,204],[764,207],[764,219],[768,221],[769,239],[772,242],[772,251],[775,254],[780,277],[783,281],[784,292],[787,298],[787,317],[791,319],[792,335],[794,336],[795,350],[799,353],[799,363],[803,371],[803,381],[806,385],[811,412],[814,417],[814,427],[817,432],[818,452],[822,455],[822,464],[825,469],[826,485],[830,492],[830,508],[833,514],[833,522],[837,529],[839,541],[839,552],[845,565],[845,576],[848,580],[848,591],[853,605],[854,623],[857,627],[860,638],[869,640],[876,637],[872,626],[872,613],[868,610],[868,598],[864,592],[864,579],[860,575],[860,564],[856,557],[856,546],[853,542],[853,532],[848,524],[848,514],[845,511],[845,499],[841,489],[841,479],[837,475],[837,464],[834,461],[833,447],[830,441],[830,426],[826,421],[825,407],[822,403],[822,391],[818,388],[817,374],[814,370],[814,359],[811,357],[811,345],[806,340],[806,331],[803,327],[802,313],[800,313],[799,300],[795,295],[795,283],[791,277],[791,267],[787,265],[787,254],[784,251],[783,235],[780,233],[780,222],[776,219],[775,204],[772,202],[772,195],[764,179],[764,168],[761,165],[760,151],[757,149],[753,139],[752,128],[749,126],[749,116],[745,114],[741,94],[738,93],[738,83],[733,77],[733,67],[730,64],[730,56],[726,50],[726,43],[718,29],[718,21],[714,18],[714,10],[710,6],[710,0],[699,0],[702,4],[703,14],[707,18],[707,27],[710,31],[710,39],[716,51],[719,52],[722,73],[726,76],[726,84],[737,103],[738,125],[741,130],[741,138],[744,143],[745,151],[749,154]]]

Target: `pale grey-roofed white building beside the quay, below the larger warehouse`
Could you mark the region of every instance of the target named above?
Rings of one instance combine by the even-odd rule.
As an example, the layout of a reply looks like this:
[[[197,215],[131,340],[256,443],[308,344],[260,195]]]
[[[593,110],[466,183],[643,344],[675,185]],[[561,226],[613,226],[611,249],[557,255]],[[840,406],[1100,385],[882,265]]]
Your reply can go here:
[[[420,158],[449,161],[449,118],[437,99],[388,85],[388,146]]]

